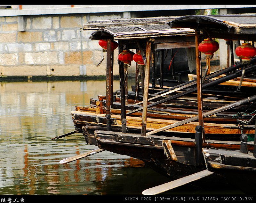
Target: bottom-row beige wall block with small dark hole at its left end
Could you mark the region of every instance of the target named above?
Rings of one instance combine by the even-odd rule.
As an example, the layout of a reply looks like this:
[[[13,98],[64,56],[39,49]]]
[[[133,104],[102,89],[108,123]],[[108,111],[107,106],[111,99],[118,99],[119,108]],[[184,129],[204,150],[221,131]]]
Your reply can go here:
[[[79,76],[79,65],[54,65],[50,66],[52,76]]]

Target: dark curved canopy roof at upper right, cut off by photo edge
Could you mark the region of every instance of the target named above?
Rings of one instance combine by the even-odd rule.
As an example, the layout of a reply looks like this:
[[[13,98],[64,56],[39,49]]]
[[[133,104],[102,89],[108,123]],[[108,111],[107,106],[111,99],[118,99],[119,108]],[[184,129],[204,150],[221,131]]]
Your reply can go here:
[[[168,19],[166,24],[172,28],[191,28],[204,32],[206,38],[256,40],[256,13],[188,15]]]

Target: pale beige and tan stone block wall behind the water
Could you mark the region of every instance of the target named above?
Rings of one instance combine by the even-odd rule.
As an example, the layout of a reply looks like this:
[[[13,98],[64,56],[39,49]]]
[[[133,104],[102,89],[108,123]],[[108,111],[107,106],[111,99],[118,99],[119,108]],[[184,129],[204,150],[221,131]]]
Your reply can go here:
[[[93,31],[83,25],[120,15],[72,14],[0,17],[1,76],[105,76],[105,59]],[[24,31],[19,31],[23,26]],[[118,49],[114,51],[114,75],[119,75]],[[131,67],[131,69],[134,68]],[[131,71],[132,72],[132,71]],[[130,73],[131,73],[130,72]]]

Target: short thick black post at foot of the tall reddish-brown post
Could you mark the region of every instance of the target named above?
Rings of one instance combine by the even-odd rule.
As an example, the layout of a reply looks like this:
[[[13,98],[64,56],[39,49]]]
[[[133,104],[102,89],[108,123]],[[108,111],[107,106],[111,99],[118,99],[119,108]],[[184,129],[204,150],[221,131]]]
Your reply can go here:
[[[204,157],[202,153],[202,135],[203,135],[203,127],[202,126],[196,126],[196,135],[195,135],[195,141],[196,141],[196,150],[195,150],[195,155],[196,155],[196,166],[199,164],[204,163]]]

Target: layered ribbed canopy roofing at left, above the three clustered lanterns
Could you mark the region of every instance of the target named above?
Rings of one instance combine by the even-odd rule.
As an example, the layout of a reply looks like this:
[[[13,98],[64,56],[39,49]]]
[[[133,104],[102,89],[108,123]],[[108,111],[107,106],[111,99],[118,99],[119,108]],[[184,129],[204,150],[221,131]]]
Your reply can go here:
[[[91,21],[83,26],[84,30],[96,30],[90,36],[92,40],[112,39],[129,41],[147,41],[153,39],[155,49],[195,47],[195,30],[190,28],[171,28],[167,20],[175,17],[120,18]]]

